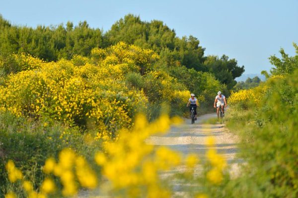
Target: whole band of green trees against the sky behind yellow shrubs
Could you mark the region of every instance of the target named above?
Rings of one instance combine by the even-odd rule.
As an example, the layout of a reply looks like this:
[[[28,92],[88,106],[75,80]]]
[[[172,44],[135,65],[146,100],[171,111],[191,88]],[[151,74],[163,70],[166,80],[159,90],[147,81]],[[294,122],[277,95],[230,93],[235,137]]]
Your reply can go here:
[[[199,46],[197,38],[179,38],[175,31],[162,21],[146,22],[132,14],[118,20],[104,34],[100,29],[90,28],[86,21],[79,22],[77,26],[68,22],[66,25],[30,28],[11,25],[2,16],[0,28],[0,57],[6,64],[4,74],[15,72],[13,60],[9,60],[12,53],[24,52],[45,61],[62,58],[70,60],[76,55],[93,56],[93,48],[107,48],[120,41],[154,50],[160,56],[155,66],[185,66],[188,69],[212,73],[229,90],[235,84],[234,79],[244,72],[243,67],[238,67],[237,62],[234,59],[228,60],[227,56],[221,59],[205,57],[205,48]]]

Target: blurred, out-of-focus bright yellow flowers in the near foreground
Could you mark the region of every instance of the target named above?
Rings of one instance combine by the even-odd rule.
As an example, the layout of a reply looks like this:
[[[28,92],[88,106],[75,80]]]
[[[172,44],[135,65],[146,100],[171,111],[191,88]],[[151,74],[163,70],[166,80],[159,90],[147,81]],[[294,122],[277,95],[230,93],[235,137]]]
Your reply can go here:
[[[159,119],[149,123],[146,116],[141,114],[135,119],[132,129],[122,129],[117,141],[105,141],[103,151],[98,151],[94,161],[100,166],[101,182],[108,192],[120,197],[148,197],[169,198],[172,196],[171,187],[165,180],[159,177],[162,171],[169,171],[181,165],[181,154],[166,146],[149,145],[146,140],[157,133],[165,133],[170,125],[178,123],[178,118],[169,118],[162,115]],[[215,185],[220,184],[224,177],[226,167],[224,157],[212,148],[215,145],[213,137],[207,138],[208,151],[206,152],[207,163],[210,164],[206,179]],[[185,173],[194,174],[194,168],[199,158],[195,154],[189,154],[185,158],[188,168]],[[17,173],[17,168],[10,160],[6,164],[11,182],[22,178]],[[59,154],[59,160],[54,158],[46,160],[43,172],[53,174],[60,178],[63,186],[64,197],[74,196],[79,187],[94,189],[99,187],[97,173],[92,170],[85,157],[78,155],[71,148],[63,149]],[[188,177],[190,178],[190,177]],[[108,187],[107,187],[108,186]],[[101,186],[100,186],[101,187]],[[23,181],[23,189],[29,198],[43,198],[47,194],[57,190],[52,179],[46,178],[40,189],[35,192],[32,183]],[[7,194],[8,195],[8,194]],[[207,198],[205,194],[199,194],[198,198]]]

